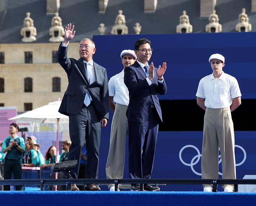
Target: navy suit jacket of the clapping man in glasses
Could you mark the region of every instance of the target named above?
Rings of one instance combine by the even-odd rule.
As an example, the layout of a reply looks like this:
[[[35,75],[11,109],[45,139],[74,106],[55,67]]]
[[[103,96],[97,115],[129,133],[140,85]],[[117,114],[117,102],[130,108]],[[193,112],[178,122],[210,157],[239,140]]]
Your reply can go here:
[[[136,61],[133,65],[124,69],[124,84],[129,91],[129,105],[127,109],[128,122],[144,123],[148,120],[153,103],[158,115],[162,119],[162,112],[158,100],[158,94],[165,94],[167,86],[158,82],[157,68],[154,68],[154,78],[149,86],[144,70]]]

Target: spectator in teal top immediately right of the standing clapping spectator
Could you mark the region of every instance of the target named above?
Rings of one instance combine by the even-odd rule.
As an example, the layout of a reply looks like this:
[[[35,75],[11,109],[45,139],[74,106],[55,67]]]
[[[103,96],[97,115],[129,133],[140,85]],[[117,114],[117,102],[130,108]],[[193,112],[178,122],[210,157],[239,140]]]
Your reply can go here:
[[[26,139],[21,166],[35,167],[37,165],[37,152],[34,143],[30,137]]]

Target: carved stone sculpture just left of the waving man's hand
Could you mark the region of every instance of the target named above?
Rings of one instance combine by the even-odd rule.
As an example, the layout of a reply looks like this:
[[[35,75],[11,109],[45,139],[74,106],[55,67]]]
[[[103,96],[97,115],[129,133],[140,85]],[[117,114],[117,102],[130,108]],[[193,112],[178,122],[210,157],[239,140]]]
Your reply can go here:
[[[55,13],[55,16],[52,19],[52,27],[49,29],[49,34],[51,42],[60,42],[63,41],[64,28],[62,26],[62,20],[59,17],[59,13]]]

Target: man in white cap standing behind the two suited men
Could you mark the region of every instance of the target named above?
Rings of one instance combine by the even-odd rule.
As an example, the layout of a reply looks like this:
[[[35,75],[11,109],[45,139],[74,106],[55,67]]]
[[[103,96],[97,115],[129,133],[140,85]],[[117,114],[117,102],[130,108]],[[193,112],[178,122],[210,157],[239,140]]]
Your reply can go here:
[[[126,110],[129,104],[129,92],[124,84],[124,69],[132,65],[137,59],[133,50],[123,50],[120,57],[123,70],[109,79],[109,107],[114,111],[114,116],[106,164],[107,179],[123,179],[125,142],[128,132]],[[115,190],[114,184],[109,184],[108,187],[110,191]]]

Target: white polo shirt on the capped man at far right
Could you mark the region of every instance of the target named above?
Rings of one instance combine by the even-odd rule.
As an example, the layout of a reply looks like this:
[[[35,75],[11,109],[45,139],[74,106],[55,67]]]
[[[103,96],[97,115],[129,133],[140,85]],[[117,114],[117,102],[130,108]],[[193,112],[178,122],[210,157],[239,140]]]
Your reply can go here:
[[[224,108],[232,104],[232,99],[242,96],[237,79],[222,71],[219,78],[213,74],[203,77],[198,85],[196,96],[205,98],[207,108]]]

